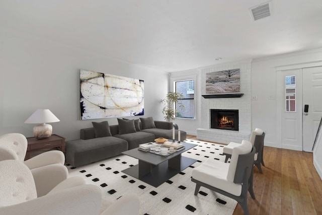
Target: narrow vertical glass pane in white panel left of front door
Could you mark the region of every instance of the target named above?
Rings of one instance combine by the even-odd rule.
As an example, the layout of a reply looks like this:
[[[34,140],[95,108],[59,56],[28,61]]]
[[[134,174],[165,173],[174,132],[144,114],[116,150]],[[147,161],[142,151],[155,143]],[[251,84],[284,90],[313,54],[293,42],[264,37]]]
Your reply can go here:
[[[296,84],[295,76],[285,77],[285,111],[296,111]]]

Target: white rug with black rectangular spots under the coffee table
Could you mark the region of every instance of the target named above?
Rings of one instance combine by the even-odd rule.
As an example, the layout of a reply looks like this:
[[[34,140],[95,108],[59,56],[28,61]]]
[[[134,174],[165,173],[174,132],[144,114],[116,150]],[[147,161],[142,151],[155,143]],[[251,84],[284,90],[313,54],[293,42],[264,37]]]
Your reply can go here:
[[[81,176],[88,184],[100,186],[104,199],[113,202],[126,193],[136,193],[140,198],[140,214],[227,214],[231,215],[237,202],[224,195],[201,187],[194,195],[196,184],[191,181],[193,168],[207,159],[224,162],[222,145],[186,139],[198,146],[184,152],[185,157],[197,162],[172,177],[162,185],[153,187],[123,172],[138,160],[126,155],[116,156],[82,167],[66,165],[69,177]]]

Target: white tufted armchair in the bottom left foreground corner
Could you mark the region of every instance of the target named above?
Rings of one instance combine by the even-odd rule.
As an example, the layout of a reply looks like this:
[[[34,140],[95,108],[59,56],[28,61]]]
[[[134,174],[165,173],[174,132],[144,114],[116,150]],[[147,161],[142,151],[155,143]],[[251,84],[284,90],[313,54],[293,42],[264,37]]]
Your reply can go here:
[[[139,212],[139,199],[133,194],[124,195],[102,208],[101,189],[86,184],[81,177],[68,178],[46,195],[37,197],[32,173],[24,163],[0,161],[0,172],[0,214],[134,215]]]

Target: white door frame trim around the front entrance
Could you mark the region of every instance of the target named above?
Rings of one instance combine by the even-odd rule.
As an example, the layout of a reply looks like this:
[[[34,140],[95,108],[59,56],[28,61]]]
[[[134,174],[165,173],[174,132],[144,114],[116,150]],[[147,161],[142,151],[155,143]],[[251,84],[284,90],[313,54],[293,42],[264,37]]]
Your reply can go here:
[[[284,98],[284,92],[285,85],[283,85],[281,79],[283,77],[283,70],[290,70],[290,69],[302,69],[302,68],[308,68],[308,67],[316,67],[316,66],[322,66],[322,60],[319,61],[310,61],[310,62],[303,62],[303,63],[296,63],[296,64],[290,64],[290,65],[282,65],[282,66],[276,66],[276,140],[277,140],[277,147],[282,149],[290,149],[290,150],[297,150],[302,151],[303,150],[303,141],[302,141],[302,148],[299,150],[297,147],[285,147],[282,145],[282,110],[284,108],[283,98]],[[302,71],[301,71],[302,74]],[[300,83],[302,83],[302,77],[300,78]],[[301,92],[302,94],[302,92]],[[300,106],[303,108],[302,99]],[[303,111],[301,110],[301,114]],[[303,121],[300,120],[300,127],[303,127]],[[303,133],[302,133],[302,139],[303,139]]]

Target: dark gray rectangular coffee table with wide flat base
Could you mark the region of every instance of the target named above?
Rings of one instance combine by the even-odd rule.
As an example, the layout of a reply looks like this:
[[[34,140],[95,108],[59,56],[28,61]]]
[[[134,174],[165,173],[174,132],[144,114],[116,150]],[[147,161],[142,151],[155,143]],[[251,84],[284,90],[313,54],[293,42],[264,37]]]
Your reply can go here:
[[[167,157],[143,152],[137,148],[122,152],[124,155],[139,160],[138,165],[125,169],[122,172],[144,181],[153,187],[158,187],[197,161],[181,156],[181,154],[198,145],[188,144],[187,142],[182,142],[182,144],[185,146],[185,149]]]

